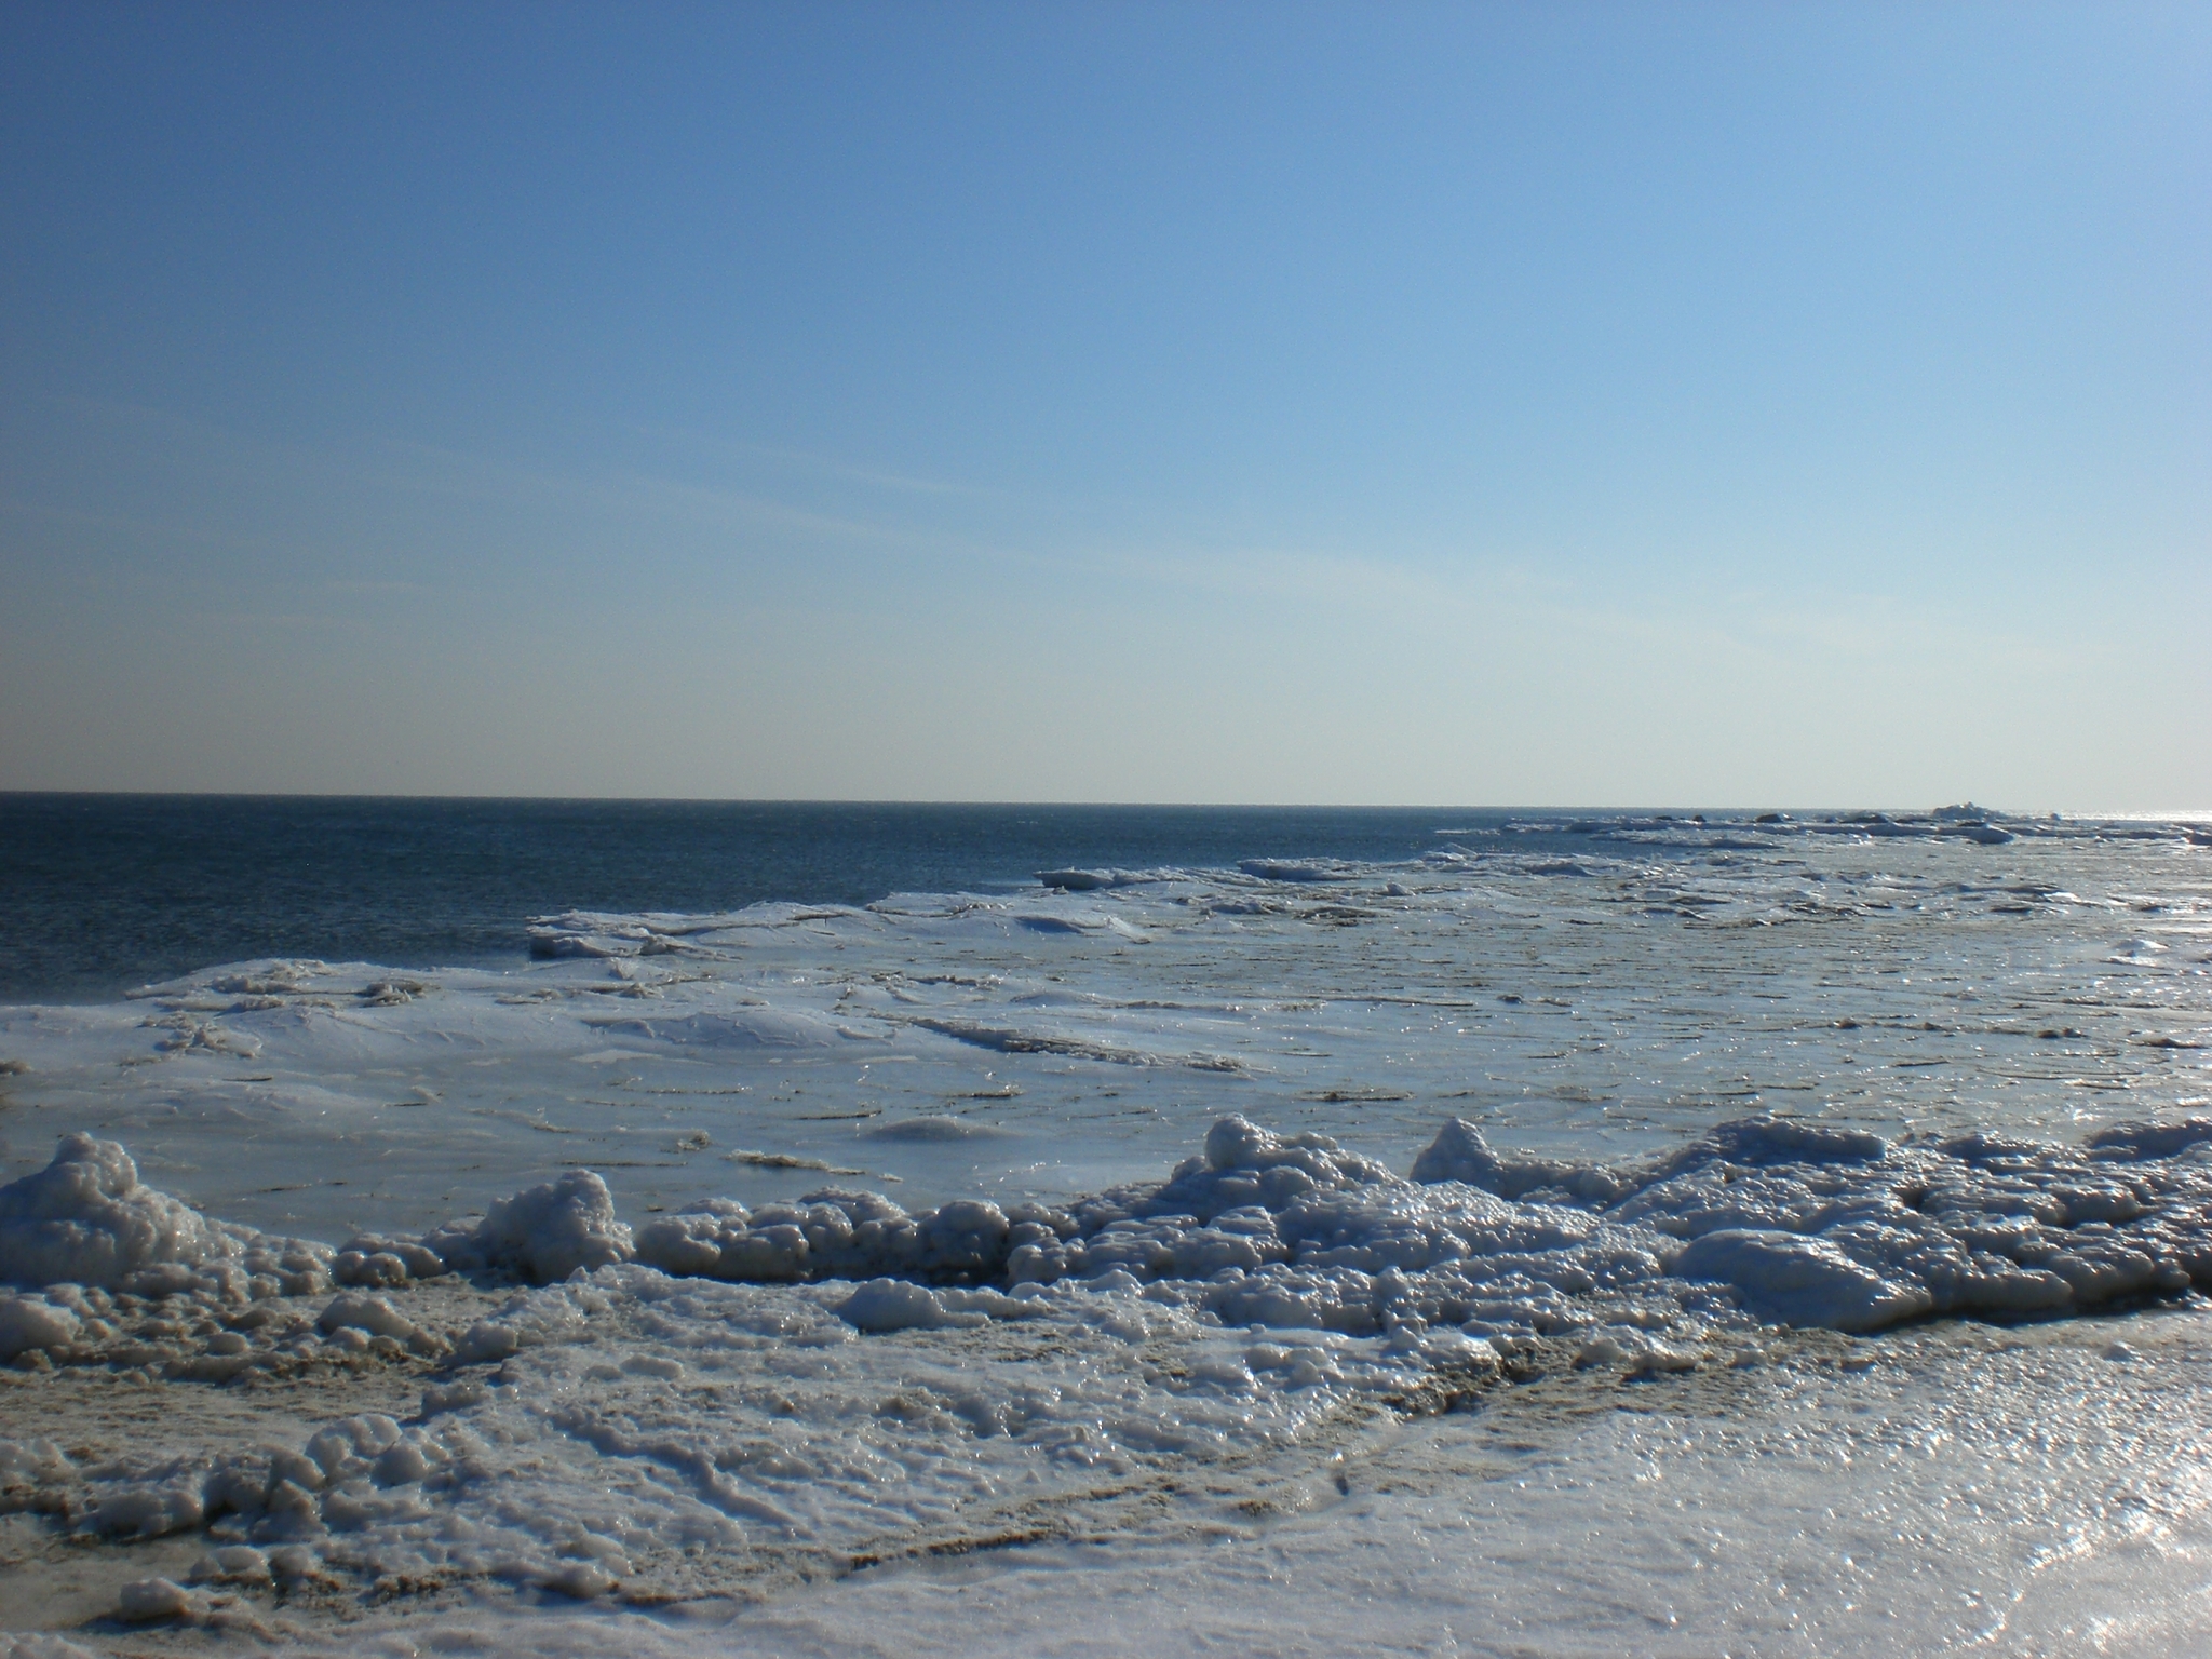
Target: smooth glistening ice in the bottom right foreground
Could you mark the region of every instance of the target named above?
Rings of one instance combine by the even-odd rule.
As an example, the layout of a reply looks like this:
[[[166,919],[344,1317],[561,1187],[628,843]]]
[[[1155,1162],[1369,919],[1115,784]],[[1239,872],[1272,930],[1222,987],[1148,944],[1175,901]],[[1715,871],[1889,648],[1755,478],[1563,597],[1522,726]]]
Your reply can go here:
[[[2201,1646],[2212,1566],[2194,1378],[2101,1334],[1898,1340],[1562,1409],[1551,1385],[1345,1449],[1265,1524],[1170,1506],[1110,1548],[1051,1540],[874,1568],[714,1621],[449,1615],[354,1652],[1836,1655]],[[2068,1400],[2062,1425],[2039,1400]],[[1281,1495],[1281,1493],[1279,1493]]]

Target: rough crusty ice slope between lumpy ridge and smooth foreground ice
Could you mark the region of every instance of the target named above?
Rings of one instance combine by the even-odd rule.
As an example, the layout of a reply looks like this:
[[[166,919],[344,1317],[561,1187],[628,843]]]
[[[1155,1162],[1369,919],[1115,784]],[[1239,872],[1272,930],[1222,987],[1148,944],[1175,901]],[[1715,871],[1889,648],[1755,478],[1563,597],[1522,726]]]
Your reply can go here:
[[[394,1358],[442,1354],[407,1314],[420,1294],[343,1292],[316,1325],[338,1347],[374,1334]],[[1495,1369],[1453,1334],[1225,1327],[1128,1274],[1009,1296],[644,1265],[518,1292],[451,1365],[418,1413],[361,1411],[294,1444],[195,1455],[155,1438],[86,1460],[0,1442],[4,1506],[86,1537],[204,1531],[325,1584],[728,1595],[1164,1493],[1190,1467]]]

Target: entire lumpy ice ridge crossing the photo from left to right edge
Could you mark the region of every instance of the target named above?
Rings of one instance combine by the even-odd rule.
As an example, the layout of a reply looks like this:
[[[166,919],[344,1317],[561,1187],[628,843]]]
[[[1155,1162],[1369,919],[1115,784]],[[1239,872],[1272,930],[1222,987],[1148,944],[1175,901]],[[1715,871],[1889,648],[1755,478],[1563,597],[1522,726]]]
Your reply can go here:
[[[1223,1325],[1345,1336],[2039,1316],[2212,1285],[2212,1119],[2055,1146],[1754,1117],[1632,1166],[1502,1155],[1451,1119],[1409,1179],[1325,1135],[1225,1117],[1166,1181],[1068,1206],[909,1212],[825,1188],[752,1208],[703,1199],[633,1230],[597,1175],[571,1170],[420,1241],[365,1237],[336,1254],[208,1221],[84,1135],[0,1188],[0,1272],[24,1287],[241,1301],[442,1272],[555,1283],[622,1263],[759,1285],[883,1281],[856,1301],[863,1325],[929,1323],[945,1303],[918,1294],[933,1290],[1004,1301],[1062,1281],[1159,1285]],[[0,1345],[66,1345],[66,1294],[0,1301]]]

